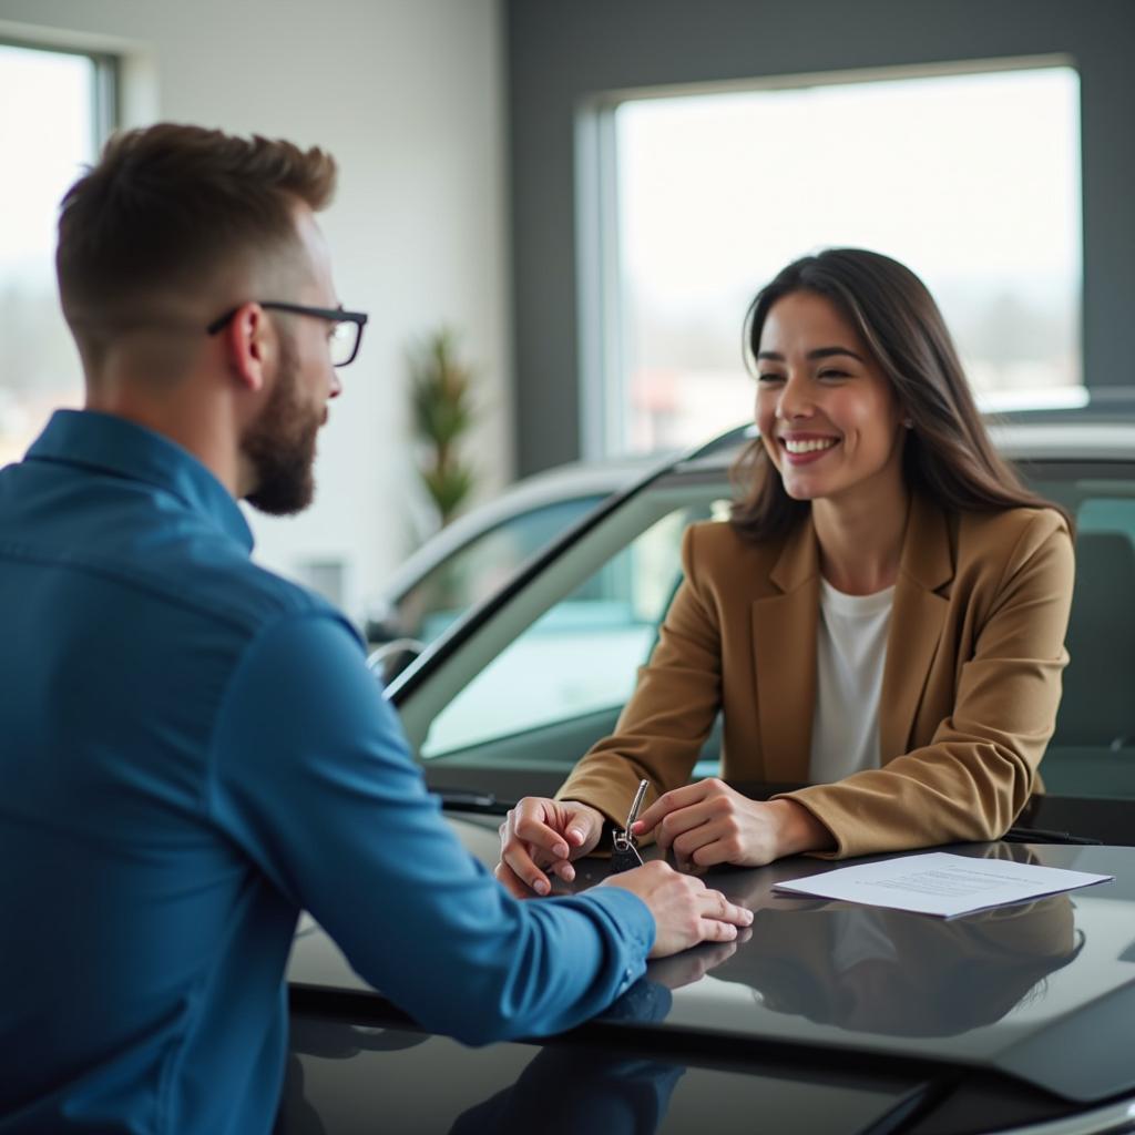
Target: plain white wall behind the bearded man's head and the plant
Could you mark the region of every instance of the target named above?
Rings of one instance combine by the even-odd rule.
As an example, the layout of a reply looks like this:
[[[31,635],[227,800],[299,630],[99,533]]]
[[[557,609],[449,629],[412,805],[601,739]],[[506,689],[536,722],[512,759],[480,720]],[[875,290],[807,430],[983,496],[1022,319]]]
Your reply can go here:
[[[5,37],[123,53],[125,125],[193,121],[337,158],[322,225],[343,303],[371,321],[320,438],[316,504],[253,524],[278,571],[342,560],[358,613],[411,544],[405,352],[442,322],[480,375],[481,495],[511,476],[497,0],[0,0]]]

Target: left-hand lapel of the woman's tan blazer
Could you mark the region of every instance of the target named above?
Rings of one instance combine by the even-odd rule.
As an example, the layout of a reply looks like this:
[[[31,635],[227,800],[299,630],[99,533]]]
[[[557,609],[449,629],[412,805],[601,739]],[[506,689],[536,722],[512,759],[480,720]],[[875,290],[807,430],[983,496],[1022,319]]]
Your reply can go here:
[[[819,556],[810,522],[789,536],[770,579],[780,594],[751,608],[764,776],[806,781],[819,613]]]

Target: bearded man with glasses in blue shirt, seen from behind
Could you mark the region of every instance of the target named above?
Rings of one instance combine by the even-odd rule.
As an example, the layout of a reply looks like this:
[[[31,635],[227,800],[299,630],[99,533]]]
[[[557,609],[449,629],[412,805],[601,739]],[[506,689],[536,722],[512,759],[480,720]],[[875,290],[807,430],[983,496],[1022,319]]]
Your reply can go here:
[[[314,221],[334,177],[162,125],[64,200],[86,409],[0,472],[0,1133],[269,1130],[301,908],[471,1043],[570,1027],[750,920],[663,864],[510,897],[351,625],[251,563],[236,501],[309,503],[365,322]]]

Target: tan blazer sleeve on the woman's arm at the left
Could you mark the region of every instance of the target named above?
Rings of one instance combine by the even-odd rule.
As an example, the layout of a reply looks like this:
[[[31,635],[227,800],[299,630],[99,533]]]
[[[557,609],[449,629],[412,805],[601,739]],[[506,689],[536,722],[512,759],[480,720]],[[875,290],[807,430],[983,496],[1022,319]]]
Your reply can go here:
[[[713,596],[697,571],[698,526],[682,537],[682,582],[658,642],[623,708],[615,732],[598,741],[556,793],[623,824],[640,780],[644,807],[689,780],[721,706],[721,631]]]

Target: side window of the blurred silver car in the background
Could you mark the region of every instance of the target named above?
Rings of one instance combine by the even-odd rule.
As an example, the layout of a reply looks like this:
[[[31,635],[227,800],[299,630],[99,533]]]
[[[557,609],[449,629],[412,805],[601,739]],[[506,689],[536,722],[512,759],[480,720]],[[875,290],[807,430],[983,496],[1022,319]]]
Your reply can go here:
[[[398,600],[401,632],[422,642],[437,638],[603,499],[602,494],[595,494],[556,501],[511,516],[477,536],[427,572]]]

